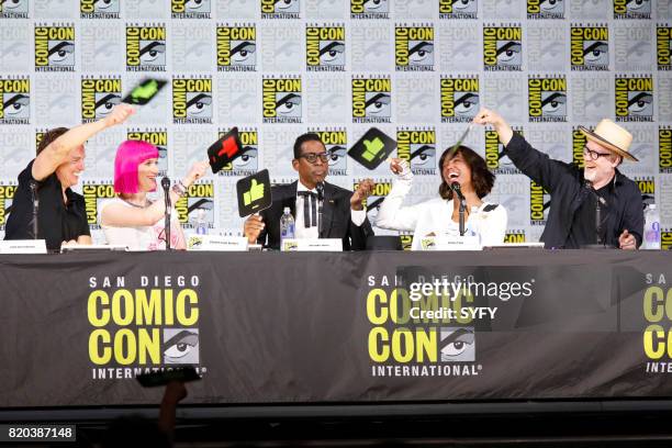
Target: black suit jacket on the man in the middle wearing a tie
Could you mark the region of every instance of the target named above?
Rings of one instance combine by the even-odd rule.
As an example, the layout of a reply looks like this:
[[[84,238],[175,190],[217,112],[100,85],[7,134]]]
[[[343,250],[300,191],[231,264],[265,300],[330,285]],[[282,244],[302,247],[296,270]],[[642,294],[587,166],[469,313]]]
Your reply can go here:
[[[273,202],[260,214],[266,227],[259,234],[257,243],[272,249],[280,248],[280,216],[285,206],[290,208],[292,216],[296,217],[296,184],[271,187]],[[351,191],[324,182],[324,205],[322,211],[321,238],[341,238],[344,250],[363,250],[367,237],[373,235],[369,219],[357,226],[350,217]]]

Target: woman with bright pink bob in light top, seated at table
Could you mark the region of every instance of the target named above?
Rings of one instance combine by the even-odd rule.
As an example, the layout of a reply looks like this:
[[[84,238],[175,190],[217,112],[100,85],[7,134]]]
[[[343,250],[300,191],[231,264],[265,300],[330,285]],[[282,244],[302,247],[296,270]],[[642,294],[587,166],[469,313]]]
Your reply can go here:
[[[125,245],[131,250],[157,250],[166,248],[164,199],[150,201],[147,193],[156,191],[158,176],[158,149],[147,142],[126,141],[116,149],[114,159],[114,191],[117,197],[100,208],[100,223],[109,244]],[[175,204],[202,178],[206,161],[193,164],[189,173],[170,190]],[[172,210],[170,247],[184,249],[184,235]]]

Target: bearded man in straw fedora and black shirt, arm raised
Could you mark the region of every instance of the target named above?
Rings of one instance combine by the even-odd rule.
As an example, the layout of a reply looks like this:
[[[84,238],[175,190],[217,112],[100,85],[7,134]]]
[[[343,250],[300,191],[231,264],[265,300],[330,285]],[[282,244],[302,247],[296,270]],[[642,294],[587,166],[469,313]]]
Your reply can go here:
[[[639,247],[643,233],[641,193],[616,169],[624,159],[638,161],[628,152],[632,142],[629,132],[606,119],[592,132],[581,126],[587,138],[581,169],[533,148],[494,111],[481,109],[473,121],[493,125],[514,165],[550,193],[551,206],[541,234],[546,248],[595,244]]]

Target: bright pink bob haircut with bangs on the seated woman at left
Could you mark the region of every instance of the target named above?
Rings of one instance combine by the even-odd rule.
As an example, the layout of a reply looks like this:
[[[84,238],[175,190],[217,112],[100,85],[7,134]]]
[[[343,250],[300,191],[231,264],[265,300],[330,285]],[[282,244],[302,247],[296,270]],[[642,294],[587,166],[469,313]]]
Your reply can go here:
[[[114,159],[114,192],[137,193],[137,167],[150,158],[158,158],[158,149],[150,143],[125,141],[119,145]]]

